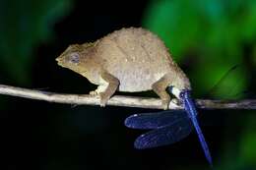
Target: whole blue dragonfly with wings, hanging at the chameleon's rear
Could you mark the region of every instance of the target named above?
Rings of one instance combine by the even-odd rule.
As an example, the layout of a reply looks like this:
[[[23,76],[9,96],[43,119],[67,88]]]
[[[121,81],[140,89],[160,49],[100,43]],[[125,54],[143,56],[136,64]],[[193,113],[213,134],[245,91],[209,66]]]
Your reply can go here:
[[[172,87],[168,87],[167,90],[171,91]],[[152,130],[138,137],[134,146],[144,149],[179,142],[186,138],[194,127],[205,156],[210,166],[213,167],[211,153],[199,127],[197,111],[190,97],[190,91],[182,90],[179,93],[179,98],[184,110],[134,114],[125,119],[125,126],[128,128]]]

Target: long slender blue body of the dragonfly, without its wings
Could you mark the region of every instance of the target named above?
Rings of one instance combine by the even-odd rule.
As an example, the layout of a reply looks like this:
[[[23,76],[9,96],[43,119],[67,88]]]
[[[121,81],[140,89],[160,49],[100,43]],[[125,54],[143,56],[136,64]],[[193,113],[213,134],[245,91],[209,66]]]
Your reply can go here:
[[[203,147],[205,156],[206,156],[210,166],[213,167],[213,160],[212,160],[212,157],[211,157],[209,147],[207,145],[207,142],[204,138],[204,135],[202,133],[201,128],[199,127],[199,124],[198,124],[198,121],[197,121],[197,118],[196,118],[197,111],[196,111],[196,108],[195,108],[195,104],[194,104],[194,102],[192,101],[192,99],[190,97],[189,91],[184,91],[184,93],[181,94],[181,95],[183,95],[183,96],[181,96],[181,98],[183,99],[185,110],[188,113],[188,115],[189,115],[190,119],[192,120],[192,123],[193,123],[193,125],[196,129],[196,132],[198,134],[199,141],[200,141],[200,143]]]

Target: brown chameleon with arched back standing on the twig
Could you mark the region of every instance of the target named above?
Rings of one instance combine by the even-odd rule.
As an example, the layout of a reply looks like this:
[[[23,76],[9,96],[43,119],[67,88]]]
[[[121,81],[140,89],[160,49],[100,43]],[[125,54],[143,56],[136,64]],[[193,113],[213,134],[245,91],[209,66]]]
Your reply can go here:
[[[98,85],[100,106],[116,90],[137,92],[153,89],[168,108],[167,86],[190,89],[186,75],[172,60],[160,38],[144,28],[122,28],[94,43],[72,44],[58,58],[68,68]]]

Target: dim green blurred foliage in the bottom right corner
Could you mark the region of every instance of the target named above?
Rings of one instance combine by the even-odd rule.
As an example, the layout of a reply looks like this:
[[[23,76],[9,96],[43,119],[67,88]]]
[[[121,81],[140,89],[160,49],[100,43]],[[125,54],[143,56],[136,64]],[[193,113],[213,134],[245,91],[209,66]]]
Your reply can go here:
[[[232,133],[236,134],[236,138],[233,139],[235,141],[226,139],[224,142],[224,154],[221,158],[219,158],[220,163],[218,169],[250,170],[255,169],[256,167],[256,126],[254,123],[255,115],[253,115],[252,111],[244,111],[243,113],[243,118],[237,122],[243,127],[243,130],[241,130],[242,133]],[[228,127],[226,129],[233,131],[233,125],[232,127]]]

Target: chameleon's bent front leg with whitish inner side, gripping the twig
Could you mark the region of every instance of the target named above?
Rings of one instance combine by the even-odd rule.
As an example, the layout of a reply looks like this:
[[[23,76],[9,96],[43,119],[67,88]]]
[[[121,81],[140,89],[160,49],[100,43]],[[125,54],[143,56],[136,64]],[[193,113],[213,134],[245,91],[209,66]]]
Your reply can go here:
[[[116,91],[119,81],[114,76],[109,74],[106,71],[100,73],[102,79],[102,85],[98,85],[95,91],[91,91],[90,94],[96,95],[99,94],[100,106],[105,106],[107,100],[113,95]]]

